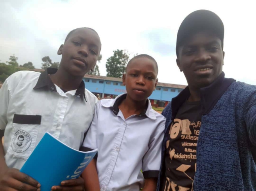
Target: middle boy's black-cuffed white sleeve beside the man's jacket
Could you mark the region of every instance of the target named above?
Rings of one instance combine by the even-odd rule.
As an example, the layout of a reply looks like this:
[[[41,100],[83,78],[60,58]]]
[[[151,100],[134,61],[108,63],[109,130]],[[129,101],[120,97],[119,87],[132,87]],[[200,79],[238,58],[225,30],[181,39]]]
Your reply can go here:
[[[158,177],[161,165],[161,147],[163,142],[163,131],[165,123],[155,131],[149,143],[149,150],[143,157],[142,171],[145,179]]]

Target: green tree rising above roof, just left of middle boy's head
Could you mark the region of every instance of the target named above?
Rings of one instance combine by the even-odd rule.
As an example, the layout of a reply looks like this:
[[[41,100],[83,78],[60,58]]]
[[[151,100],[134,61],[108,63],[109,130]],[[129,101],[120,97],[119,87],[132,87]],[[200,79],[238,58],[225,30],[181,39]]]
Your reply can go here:
[[[107,59],[107,76],[121,78],[125,73],[125,67],[129,61],[129,54],[127,51],[119,49],[113,51],[113,53],[114,55]]]

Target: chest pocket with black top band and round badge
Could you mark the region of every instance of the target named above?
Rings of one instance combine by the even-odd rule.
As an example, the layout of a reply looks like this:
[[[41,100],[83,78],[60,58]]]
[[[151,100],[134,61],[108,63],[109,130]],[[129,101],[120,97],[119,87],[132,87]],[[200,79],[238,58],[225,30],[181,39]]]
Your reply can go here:
[[[11,143],[7,154],[16,159],[27,160],[34,151],[41,116],[14,114],[11,132]]]

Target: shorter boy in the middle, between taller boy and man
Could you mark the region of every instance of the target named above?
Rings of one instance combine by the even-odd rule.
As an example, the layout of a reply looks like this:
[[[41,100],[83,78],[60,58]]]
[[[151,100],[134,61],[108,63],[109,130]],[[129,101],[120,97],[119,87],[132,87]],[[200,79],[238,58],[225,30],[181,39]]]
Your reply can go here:
[[[82,173],[87,190],[156,190],[165,117],[152,109],[148,97],[156,88],[157,74],[154,58],[135,56],[123,75],[127,94],[95,105],[81,149],[98,148],[97,159]]]

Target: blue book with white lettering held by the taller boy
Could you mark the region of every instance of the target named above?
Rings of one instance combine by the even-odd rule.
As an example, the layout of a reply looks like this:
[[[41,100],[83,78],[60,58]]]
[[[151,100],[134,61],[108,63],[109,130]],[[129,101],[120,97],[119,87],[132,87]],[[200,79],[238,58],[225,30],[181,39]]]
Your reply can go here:
[[[72,149],[47,132],[20,172],[37,180],[41,191],[50,191],[63,180],[78,178],[96,153],[97,149],[90,152]]]

